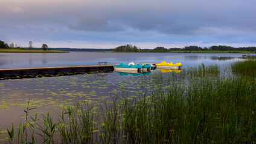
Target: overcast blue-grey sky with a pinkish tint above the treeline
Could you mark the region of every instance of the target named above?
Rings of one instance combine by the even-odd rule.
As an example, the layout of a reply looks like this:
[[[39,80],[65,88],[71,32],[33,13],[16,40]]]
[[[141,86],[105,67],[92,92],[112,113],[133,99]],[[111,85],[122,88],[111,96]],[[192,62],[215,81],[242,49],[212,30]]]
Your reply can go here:
[[[28,47],[256,46],[255,0],[0,0],[0,40]]]

